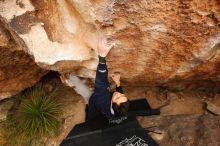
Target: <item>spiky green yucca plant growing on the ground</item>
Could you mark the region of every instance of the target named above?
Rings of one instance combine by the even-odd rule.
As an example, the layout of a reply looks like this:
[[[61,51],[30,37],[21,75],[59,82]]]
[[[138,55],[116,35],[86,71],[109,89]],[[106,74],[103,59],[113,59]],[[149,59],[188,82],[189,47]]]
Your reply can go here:
[[[46,91],[38,85],[18,95],[21,103],[12,117],[15,137],[25,136],[28,143],[45,135],[57,134],[60,128],[60,104],[55,100],[56,89]]]

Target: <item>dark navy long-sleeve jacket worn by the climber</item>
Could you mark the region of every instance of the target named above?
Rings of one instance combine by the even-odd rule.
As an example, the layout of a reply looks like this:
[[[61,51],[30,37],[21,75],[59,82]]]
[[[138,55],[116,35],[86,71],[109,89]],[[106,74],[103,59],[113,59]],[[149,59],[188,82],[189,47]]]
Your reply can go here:
[[[116,91],[124,93],[122,87],[116,87]],[[127,117],[117,116],[111,112],[112,93],[109,91],[108,69],[105,60],[98,64],[95,79],[95,90],[89,99],[88,119],[104,116],[109,123],[121,123]]]

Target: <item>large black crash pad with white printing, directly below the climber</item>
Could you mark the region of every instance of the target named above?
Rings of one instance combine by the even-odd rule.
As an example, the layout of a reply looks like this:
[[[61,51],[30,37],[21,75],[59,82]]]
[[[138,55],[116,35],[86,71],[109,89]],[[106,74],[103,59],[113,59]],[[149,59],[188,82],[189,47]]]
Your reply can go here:
[[[123,124],[92,130],[82,123],[69,133],[60,146],[158,146],[135,118]]]

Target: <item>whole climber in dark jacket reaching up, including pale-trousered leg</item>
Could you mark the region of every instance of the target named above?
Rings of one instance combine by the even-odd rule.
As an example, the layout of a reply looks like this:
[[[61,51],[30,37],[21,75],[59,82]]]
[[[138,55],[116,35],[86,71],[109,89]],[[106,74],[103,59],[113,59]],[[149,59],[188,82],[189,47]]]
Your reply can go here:
[[[89,121],[104,117],[109,123],[119,124],[127,119],[129,100],[124,95],[120,86],[120,74],[111,75],[116,84],[116,91],[109,91],[108,69],[105,57],[112,48],[105,38],[99,38],[98,54],[99,63],[96,70],[95,89],[91,93],[89,88],[75,75],[62,74],[61,81],[73,87],[80,94],[87,105],[87,118]],[[91,94],[90,94],[91,93]]]

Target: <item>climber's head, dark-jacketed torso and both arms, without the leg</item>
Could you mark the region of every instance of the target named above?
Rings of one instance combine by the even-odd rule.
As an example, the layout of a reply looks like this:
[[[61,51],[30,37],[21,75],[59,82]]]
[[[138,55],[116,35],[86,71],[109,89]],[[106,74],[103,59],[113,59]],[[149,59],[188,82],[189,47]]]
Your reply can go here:
[[[127,119],[129,100],[124,95],[120,85],[120,74],[111,75],[116,84],[116,91],[109,91],[108,69],[105,57],[112,48],[104,38],[99,38],[98,54],[99,64],[96,71],[95,90],[89,99],[88,119],[93,120],[96,117],[104,116],[109,123],[119,124]]]

